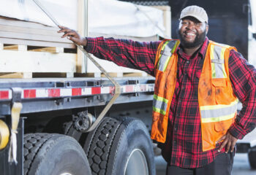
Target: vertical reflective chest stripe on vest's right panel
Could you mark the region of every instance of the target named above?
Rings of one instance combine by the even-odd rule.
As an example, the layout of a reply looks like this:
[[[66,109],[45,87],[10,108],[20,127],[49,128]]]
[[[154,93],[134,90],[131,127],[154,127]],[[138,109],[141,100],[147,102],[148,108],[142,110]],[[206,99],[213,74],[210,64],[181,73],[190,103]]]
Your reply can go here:
[[[224,53],[226,47],[211,45],[211,76],[212,78],[227,78]]]

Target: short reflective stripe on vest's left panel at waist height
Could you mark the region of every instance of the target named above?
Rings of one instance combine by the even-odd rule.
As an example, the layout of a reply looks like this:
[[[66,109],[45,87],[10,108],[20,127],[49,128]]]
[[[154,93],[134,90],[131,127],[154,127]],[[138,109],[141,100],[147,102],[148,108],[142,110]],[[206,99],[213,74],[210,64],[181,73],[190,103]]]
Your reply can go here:
[[[168,100],[162,97],[159,97],[154,94],[153,99],[153,111],[165,115],[167,109]]]

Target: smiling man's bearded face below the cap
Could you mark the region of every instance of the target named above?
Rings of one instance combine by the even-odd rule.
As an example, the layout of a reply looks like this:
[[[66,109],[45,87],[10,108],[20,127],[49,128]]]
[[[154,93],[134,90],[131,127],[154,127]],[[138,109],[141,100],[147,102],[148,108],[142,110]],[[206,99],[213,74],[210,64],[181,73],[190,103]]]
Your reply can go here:
[[[194,17],[181,19],[178,26],[178,38],[184,48],[193,48],[203,44],[208,32],[208,25]]]

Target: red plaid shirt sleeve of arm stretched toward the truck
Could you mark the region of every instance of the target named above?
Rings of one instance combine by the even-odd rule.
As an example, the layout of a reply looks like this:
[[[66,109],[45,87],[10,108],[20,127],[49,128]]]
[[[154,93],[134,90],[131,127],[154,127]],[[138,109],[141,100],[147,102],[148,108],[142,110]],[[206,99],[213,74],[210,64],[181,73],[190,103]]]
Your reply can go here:
[[[135,42],[127,39],[87,38],[87,52],[118,66],[146,71],[154,76],[154,61],[160,42]]]

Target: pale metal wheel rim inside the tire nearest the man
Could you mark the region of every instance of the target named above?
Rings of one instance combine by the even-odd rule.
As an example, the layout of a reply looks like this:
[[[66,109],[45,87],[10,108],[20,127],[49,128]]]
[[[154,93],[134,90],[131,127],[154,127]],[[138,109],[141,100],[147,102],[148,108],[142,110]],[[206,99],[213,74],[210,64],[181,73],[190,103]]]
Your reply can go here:
[[[148,174],[148,163],[140,149],[134,149],[129,155],[124,169],[125,175]]]

